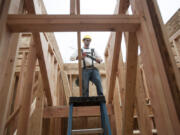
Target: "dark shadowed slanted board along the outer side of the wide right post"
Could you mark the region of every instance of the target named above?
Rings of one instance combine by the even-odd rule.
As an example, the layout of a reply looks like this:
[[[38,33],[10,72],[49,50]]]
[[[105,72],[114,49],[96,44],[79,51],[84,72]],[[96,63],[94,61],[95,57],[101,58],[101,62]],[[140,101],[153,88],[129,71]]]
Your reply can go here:
[[[165,27],[163,25],[156,1],[147,1],[147,7],[150,13],[150,18],[152,20],[152,26],[154,28],[154,36],[156,36],[157,39],[157,45],[162,57],[169,87],[171,89],[176,113],[180,120],[180,74],[175,64],[169,42],[167,40],[168,36],[166,35]]]

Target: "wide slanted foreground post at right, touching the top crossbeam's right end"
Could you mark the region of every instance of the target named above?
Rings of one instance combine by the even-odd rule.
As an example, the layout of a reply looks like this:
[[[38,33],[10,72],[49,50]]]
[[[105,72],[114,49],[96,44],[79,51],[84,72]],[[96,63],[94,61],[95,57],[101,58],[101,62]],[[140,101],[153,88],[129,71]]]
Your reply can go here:
[[[150,9],[151,7],[148,7],[147,2],[153,2],[152,9]],[[152,101],[152,108],[155,114],[155,124],[158,130],[158,134],[175,135],[180,133],[180,123],[172,98],[171,91],[173,91],[173,89],[170,88],[169,85],[170,83],[171,85],[173,83],[177,83],[177,78],[175,76],[178,76],[178,73],[176,70],[174,70],[174,62],[171,61],[172,59],[166,59],[162,56],[165,55],[166,57],[169,57],[170,50],[167,47],[167,42],[163,41],[167,40],[168,38],[165,38],[166,36],[161,29],[163,26],[162,20],[160,19],[160,13],[156,7],[157,5],[155,4],[156,6],[154,6],[154,3],[155,0],[136,0],[131,1],[131,7],[133,9],[133,13],[145,16],[142,18],[141,28],[137,31],[137,37],[138,42],[142,47],[141,55],[144,71],[147,76],[147,84],[148,87],[151,88],[149,92]],[[152,19],[150,14],[152,16],[155,15],[157,18]],[[157,23],[157,26],[154,26],[152,22]],[[161,43],[158,40],[160,40]],[[171,71],[165,69],[163,61],[165,63],[169,63],[169,68]],[[168,79],[172,77],[167,76],[168,72],[171,75],[174,73],[176,74],[174,76],[173,83],[168,81]],[[180,81],[178,81],[178,83],[179,82]],[[174,87],[176,86],[177,84],[174,85]]]

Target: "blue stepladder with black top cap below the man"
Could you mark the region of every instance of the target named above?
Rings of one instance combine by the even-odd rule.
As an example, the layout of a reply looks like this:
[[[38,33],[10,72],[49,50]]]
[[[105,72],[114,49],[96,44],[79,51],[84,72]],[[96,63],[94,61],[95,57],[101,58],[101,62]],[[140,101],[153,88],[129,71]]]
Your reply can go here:
[[[73,107],[78,107],[78,106],[100,106],[102,128],[72,130]],[[105,97],[104,96],[70,97],[67,135],[97,134],[97,133],[101,135],[112,135],[111,126],[106,109]]]

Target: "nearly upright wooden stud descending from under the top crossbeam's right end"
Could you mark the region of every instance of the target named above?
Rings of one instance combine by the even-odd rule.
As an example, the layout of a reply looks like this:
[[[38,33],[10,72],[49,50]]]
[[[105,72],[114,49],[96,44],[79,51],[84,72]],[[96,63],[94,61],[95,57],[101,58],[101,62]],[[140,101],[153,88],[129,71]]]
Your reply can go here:
[[[123,106],[122,135],[133,134],[133,114],[136,89],[138,43],[136,33],[128,33],[126,56],[125,101]]]

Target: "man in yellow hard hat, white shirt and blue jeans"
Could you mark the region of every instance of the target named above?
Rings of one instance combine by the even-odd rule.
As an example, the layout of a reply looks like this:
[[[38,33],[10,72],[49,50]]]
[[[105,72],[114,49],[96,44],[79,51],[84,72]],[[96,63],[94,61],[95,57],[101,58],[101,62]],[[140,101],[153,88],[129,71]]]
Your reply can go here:
[[[102,62],[102,58],[98,55],[94,48],[89,48],[91,37],[89,35],[83,38],[84,47],[81,49],[82,53],[82,96],[89,96],[89,81],[96,85],[97,94],[103,95],[103,88],[101,84],[101,77],[98,69],[94,66],[94,61]],[[78,50],[76,50],[70,57],[72,61],[78,60]]]

